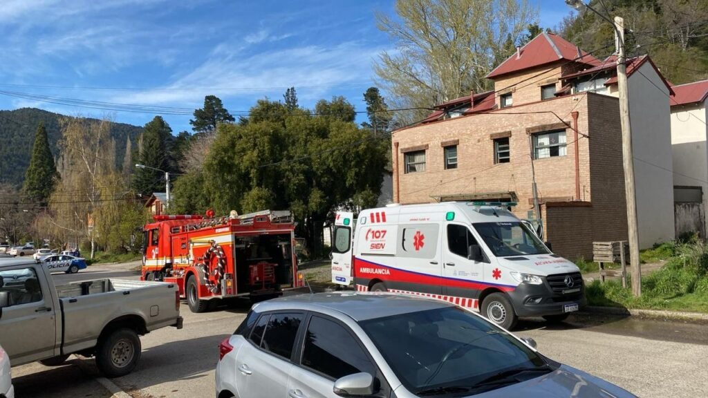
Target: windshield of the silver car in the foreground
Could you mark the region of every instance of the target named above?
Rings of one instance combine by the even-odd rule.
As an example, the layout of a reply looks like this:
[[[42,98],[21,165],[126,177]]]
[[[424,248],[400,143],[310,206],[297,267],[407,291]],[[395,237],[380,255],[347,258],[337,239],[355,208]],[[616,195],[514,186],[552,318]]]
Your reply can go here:
[[[359,323],[404,386],[420,396],[459,397],[529,378],[519,373],[552,370],[506,331],[459,307]]]

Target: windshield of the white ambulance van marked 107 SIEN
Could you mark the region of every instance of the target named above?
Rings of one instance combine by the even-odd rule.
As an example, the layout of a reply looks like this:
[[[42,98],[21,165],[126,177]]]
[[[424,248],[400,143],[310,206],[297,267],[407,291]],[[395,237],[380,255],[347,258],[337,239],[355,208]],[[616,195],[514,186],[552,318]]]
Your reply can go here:
[[[521,222],[478,222],[473,225],[494,256],[549,254],[546,246]]]

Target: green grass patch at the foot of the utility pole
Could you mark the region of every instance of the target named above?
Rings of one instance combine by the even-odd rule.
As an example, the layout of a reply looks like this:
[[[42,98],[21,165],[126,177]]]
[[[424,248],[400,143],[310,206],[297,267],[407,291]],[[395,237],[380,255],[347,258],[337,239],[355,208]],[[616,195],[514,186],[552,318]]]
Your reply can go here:
[[[586,286],[588,304],[708,313],[708,246],[695,240],[661,244],[647,256],[663,259],[666,264],[642,278],[641,297],[634,297],[630,288],[622,288],[619,280],[604,284],[595,280]],[[631,285],[629,278],[627,285]]]

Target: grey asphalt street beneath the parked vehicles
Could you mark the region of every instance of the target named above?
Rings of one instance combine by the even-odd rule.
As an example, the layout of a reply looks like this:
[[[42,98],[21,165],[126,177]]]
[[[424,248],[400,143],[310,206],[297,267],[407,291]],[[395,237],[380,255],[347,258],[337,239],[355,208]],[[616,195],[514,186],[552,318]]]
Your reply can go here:
[[[89,278],[138,278],[130,265],[56,275],[57,283]],[[160,329],[142,337],[142,358],[130,375],[113,382],[134,398],[213,397],[217,346],[232,334],[249,309],[247,302],[216,312],[193,314],[182,307],[184,328]],[[532,337],[539,351],[634,392],[639,397],[705,397],[708,394],[708,326],[594,314],[575,314],[549,326],[520,322],[516,333]],[[18,397],[110,397],[89,373],[93,361],[39,364],[13,369]]]

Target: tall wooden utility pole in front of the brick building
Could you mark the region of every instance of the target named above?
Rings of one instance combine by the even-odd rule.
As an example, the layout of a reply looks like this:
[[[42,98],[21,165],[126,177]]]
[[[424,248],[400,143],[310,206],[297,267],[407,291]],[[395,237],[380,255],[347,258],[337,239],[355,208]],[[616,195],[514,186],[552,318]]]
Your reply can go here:
[[[632,294],[641,295],[641,265],[639,264],[639,234],[636,222],[636,193],[634,191],[634,155],[632,154],[632,125],[629,120],[629,92],[627,64],[624,55],[624,19],[615,17],[615,45],[617,45],[617,90],[619,91],[619,121],[622,125],[622,167],[624,195],[627,200],[627,232],[629,234],[629,264],[632,272]]]

